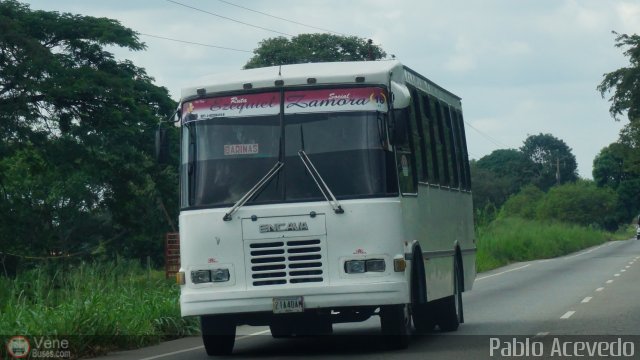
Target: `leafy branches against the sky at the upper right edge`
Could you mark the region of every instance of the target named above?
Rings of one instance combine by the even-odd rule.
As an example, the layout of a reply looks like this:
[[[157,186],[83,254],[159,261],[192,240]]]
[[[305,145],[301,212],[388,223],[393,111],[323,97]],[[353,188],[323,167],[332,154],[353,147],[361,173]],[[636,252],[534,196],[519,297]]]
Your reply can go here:
[[[624,55],[629,57],[629,66],[604,74],[597,89],[604,98],[609,92],[611,106],[609,112],[614,119],[627,112],[629,121],[640,119],[640,36],[616,34],[616,47],[626,48]]]

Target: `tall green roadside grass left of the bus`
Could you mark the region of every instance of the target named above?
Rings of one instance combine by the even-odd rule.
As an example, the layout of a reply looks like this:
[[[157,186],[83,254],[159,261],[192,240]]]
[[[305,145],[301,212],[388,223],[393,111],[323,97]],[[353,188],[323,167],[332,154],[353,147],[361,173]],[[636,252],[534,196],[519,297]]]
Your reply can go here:
[[[199,331],[197,319],[180,316],[179,288],[163,272],[147,272],[135,261],[66,270],[44,265],[15,279],[0,277],[0,289],[0,339],[68,336],[74,357]]]

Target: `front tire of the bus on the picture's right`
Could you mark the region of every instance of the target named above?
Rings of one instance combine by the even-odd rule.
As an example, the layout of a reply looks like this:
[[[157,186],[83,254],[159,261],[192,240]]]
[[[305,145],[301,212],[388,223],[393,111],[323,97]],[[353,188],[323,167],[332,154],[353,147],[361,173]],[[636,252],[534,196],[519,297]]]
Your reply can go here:
[[[411,307],[409,304],[380,307],[380,325],[390,348],[406,349],[411,337]]]

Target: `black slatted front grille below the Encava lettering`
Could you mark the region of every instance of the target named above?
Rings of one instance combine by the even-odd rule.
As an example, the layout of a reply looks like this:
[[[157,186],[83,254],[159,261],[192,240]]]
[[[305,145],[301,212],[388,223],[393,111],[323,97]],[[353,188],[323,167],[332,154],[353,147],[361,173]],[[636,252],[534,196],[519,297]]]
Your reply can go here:
[[[253,286],[323,282],[323,248],[320,239],[251,242],[247,250]]]

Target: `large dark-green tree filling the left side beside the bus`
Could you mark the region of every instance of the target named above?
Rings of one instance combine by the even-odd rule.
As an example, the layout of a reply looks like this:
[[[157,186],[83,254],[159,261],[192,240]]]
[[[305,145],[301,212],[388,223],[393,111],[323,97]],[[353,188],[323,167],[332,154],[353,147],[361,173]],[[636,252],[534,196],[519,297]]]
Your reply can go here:
[[[152,161],[153,134],[176,104],[105,46],[144,49],[115,20],[0,2],[0,249],[43,256],[103,242],[161,256],[156,198],[177,199],[177,180]]]

